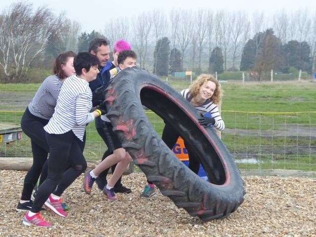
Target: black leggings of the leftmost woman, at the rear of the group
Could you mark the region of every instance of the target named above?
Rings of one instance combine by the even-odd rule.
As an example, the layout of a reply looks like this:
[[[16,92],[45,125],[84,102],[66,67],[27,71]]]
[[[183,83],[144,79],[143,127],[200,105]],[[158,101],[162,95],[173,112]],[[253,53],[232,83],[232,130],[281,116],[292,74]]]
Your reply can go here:
[[[40,172],[47,159],[48,144],[45,138],[44,126],[49,120],[34,116],[29,108],[24,112],[21,119],[21,128],[23,132],[31,138],[31,147],[33,153],[33,164],[24,178],[22,191],[22,200],[30,200],[32,191],[38,182]]]

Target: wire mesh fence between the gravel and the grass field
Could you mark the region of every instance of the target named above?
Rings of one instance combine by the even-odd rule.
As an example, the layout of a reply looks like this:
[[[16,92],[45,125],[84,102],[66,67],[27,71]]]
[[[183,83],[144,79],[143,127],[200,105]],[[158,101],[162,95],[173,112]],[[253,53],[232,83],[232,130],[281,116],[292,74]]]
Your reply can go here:
[[[0,123],[19,124],[23,111],[0,111]],[[146,112],[161,136],[163,120]],[[222,141],[243,169],[316,171],[316,112],[254,113],[222,111]],[[86,129],[86,159],[100,159],[107,149],[94,124]],[[32,157],[30,139],[0,144],[2,157]]]

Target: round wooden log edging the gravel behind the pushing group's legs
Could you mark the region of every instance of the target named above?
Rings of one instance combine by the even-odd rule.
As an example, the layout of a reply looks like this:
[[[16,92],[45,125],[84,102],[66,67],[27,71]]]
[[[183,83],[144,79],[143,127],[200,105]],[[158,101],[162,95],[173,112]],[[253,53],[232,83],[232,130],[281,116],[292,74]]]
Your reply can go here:
[[[29,170],[32,163],[32,157],[0,157],[0,170]],[[87,169],[93,169],[98,163],[100,160],[87,160]],[[131,161],[124,174],[130,174],[133,171],[134,163]]]

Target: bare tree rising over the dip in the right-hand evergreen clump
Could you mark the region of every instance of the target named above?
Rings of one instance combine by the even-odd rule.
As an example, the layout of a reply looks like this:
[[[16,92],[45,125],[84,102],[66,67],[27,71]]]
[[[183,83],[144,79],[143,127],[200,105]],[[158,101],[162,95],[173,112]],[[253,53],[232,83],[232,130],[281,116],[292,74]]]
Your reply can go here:
[[[276,12],[273,16],[273,25],[276,32],[276,37],[278,37],[282,43],[287,42],[287,34],[289,28],[288,16],[285,9]]]

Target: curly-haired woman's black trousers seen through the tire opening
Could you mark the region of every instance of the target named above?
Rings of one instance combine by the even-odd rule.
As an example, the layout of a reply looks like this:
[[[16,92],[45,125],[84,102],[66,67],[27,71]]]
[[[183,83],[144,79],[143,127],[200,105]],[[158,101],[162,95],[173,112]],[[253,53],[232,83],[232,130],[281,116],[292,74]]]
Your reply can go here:
[[[177,142],[178,137],[179,133],[174,129],[174,127],[170,123],[166,122],[162,132],[162,141],[168,146],[170,150]],[[191,149],[190,144],[184,141],[184,145],[188,151],[189,168],[197,174],[199,170],[200,161],[197,158],[196,154],[192,152],[193,150]]]

